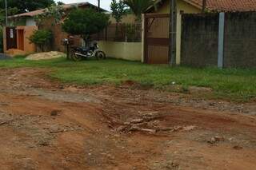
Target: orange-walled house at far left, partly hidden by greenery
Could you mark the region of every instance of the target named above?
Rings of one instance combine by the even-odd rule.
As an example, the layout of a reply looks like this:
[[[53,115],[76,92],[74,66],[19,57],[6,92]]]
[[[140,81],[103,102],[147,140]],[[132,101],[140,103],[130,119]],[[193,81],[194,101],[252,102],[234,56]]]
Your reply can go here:
[[[86,9],[94,8],[98,9],[97,6],[90,4],[89,2],[80,2],[62,5],[62,9],[67,14],[74,7]],[[47,18],[46,21],[38,25],[35,19],[38,15],[46,12],[47,9],[34,10],[23,14],[16,14],[10,16],[10,26],[4,29],[4,53],[10,55],[26,54],[36,52],[34,44],[30,43],[29,37],[33,34],[34,30],[48,29],[54,34],[54,42],[50,45],[51,50],[64,51],[65,48],[62,45],[62,39],[67,38],[68,34],[62,31],[61,24],[53,24],[54,18]],[[100,9],[101,11],[106,11]],[[65,17],[64,17],[65,18]],[[64,19],[63,18],[63,19]],[[81,38],[74,37],[74,43],[80,44]]]

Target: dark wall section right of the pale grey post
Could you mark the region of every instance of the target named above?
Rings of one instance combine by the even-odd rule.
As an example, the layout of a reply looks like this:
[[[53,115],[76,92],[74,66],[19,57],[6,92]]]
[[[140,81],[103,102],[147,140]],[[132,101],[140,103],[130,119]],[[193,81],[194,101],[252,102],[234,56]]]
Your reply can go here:
[[[256,67],[256,12],[227,13],[224,66]]]

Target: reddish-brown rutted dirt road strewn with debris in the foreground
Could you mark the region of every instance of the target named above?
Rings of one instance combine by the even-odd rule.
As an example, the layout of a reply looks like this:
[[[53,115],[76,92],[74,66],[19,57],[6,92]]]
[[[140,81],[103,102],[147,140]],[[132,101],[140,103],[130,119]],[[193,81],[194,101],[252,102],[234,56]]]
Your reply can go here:
[[[0,169],[256,169],[256,103],[1,69]]]

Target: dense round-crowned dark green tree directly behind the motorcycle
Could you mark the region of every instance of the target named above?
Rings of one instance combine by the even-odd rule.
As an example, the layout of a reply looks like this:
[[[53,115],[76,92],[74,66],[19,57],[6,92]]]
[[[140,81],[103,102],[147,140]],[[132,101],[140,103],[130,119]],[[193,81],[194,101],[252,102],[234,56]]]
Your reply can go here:
[[[90,36],[104,30],[109,24],[109,16],[93,9],[74,9],[67,15],[62,29],[73,35],[80,35],[88,45]]]

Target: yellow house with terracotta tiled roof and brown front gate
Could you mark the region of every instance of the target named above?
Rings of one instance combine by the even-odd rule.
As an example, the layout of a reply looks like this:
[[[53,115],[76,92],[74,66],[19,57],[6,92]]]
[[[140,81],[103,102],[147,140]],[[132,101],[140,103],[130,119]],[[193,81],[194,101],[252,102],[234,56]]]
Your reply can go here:
[[[256,0],[207,0],[206,11],[255,11]],[[176,64],[181,62],[182,14],[202,12],[202,0],[177,0]],[[170,0],[157,0],[143,18],[142,61],[154,64],[170,62]]]

